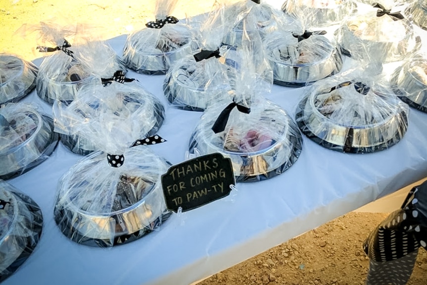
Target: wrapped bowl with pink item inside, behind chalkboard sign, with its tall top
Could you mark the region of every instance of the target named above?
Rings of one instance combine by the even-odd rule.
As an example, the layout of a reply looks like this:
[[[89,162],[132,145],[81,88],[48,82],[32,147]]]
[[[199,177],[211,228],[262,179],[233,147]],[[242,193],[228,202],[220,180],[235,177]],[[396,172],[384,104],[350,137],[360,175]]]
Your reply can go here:
[[[190,155],[218,152],[230,158],[239,182],[282,173],[296,162],[302,149],[296,124],[283,109],[262,96],[272,82],[260,78],[261,74],[271,74],[268,64],[257,64],[264,57],[261,37],[244,35],[233,100],[208,107],[189,144]]]

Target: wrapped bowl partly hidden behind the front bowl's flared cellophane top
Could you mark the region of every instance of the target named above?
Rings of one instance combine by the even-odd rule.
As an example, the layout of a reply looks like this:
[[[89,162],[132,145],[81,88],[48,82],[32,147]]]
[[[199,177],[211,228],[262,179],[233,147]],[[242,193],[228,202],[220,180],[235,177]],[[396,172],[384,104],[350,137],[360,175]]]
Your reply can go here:
[[[85,132],[91,132],[90,129],[62,128],[64,123],[60,121],[64,120],[64,117],[99,118],[100,127],[103,124],[102,120],[108,123],[116,116],[133,117],[139,121],[137,131],[141,138],[156,134],[164,121],[164,107],[160,100],[135,81],[124,84],[113,82],[107,87],[99,83],[86,85],[79,91],[77,97],[78,99],[69,105],[60,104],[63,108],[57,108],[56,102],[53,108],[55,121],[58,122],[55,125],[56,131],[61,134],[60,140],[76,154],[88,155],[101,149],[87,139]]]

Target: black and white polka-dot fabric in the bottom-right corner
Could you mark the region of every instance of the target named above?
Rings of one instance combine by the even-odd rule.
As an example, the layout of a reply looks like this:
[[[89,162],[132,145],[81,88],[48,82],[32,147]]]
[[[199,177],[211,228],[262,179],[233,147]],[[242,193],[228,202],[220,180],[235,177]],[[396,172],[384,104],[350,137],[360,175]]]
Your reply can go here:
[[[401,209],[391,213],[365,241],[364,250],[371,260],[367,285],[405,285],[418,249],[426,248],[426,242],[427,181],[411,189]]]

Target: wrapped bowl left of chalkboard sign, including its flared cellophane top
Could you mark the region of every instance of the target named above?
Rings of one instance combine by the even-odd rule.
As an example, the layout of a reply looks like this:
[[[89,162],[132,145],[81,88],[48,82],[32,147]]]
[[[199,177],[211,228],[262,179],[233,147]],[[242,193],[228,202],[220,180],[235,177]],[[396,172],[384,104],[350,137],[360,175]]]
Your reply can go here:
[[[170,215],[160,183],[169,164],[146,146],[130,148],[144,138],[141,130],[151,128],[145,118],[152,116],[155,101],[147,100],[148,94],[145,101],[139,93],[123,95],[126,85],[116,82],[100,88],[68,107],[54,105],[59,131],[78,134],[103,151],[80,160],[61,177],[54,219],[71,240],[108,247],[140,238]]]

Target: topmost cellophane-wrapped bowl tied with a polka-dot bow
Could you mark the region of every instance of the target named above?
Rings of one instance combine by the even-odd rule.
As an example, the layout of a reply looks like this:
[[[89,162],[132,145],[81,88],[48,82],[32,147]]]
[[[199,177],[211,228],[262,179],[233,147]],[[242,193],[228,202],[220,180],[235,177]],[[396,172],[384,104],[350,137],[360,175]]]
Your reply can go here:
[[[154,20],[172,16],[176,0],[157,0]],[[128,36],[123,49],[126,65],[139,73],[165,74],[177,59],[197,49],[191,27],[184,21],[162,28],[144,28]]]

